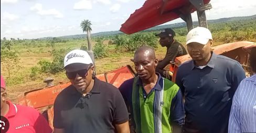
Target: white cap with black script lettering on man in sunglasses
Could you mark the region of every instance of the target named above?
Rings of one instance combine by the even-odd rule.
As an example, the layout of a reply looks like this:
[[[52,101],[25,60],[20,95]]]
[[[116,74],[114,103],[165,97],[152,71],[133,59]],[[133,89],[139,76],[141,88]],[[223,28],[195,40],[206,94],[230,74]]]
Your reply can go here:
[[[78,49],[72,50],[66,54],[64,58],[64,68],[67,65],[70,65],[73,63],[93,64],[92,59],[89,56],[88,52],[84,50],[78,50]]]

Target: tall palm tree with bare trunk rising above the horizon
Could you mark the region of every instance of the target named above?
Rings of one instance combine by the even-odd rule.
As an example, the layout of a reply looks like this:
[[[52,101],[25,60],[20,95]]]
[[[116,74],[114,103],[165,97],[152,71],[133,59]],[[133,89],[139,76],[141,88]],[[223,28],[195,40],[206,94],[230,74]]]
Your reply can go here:
[[[83,21],[81,21],[81,28],[83,30],[83,32],[87,32],[87,41],[88,41],[88,49],[89,51],[92,51],[92,46],[91,46],[91,21],[88,19],[84,19]]]

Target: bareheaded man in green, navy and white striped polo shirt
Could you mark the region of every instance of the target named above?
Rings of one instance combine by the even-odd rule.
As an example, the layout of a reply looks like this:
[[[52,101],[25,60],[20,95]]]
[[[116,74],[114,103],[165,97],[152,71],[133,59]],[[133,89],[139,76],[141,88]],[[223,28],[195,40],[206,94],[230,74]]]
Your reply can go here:
[[[179,87],[155,72],[158,60],[152,48],[143,46],[134,53],[138,76],[120,86],[132,125],[137,133],[181,132],[184,105]]]

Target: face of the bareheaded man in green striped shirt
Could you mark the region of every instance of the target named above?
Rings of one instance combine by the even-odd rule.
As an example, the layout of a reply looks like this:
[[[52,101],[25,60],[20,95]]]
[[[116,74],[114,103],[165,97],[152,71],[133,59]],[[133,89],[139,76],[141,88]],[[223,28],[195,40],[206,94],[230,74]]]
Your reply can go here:
[[[134,55],[135,71],[142,80],[147,80],[155,74],[158,61],[152,58],[150,51],[141,51]]]

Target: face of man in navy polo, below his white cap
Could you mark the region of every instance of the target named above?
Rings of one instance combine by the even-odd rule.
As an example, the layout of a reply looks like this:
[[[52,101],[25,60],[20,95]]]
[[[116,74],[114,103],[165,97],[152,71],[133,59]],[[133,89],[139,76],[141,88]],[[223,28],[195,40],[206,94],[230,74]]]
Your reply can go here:
[[[187,45],[187,50],[190,57],[194,61],[204,60],[211,52],[212,41],[209,40],[206,45],[201,45],[197,42],[191,42]]]

